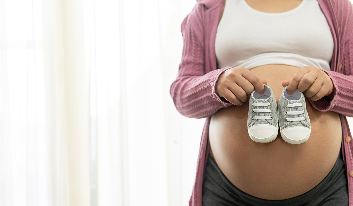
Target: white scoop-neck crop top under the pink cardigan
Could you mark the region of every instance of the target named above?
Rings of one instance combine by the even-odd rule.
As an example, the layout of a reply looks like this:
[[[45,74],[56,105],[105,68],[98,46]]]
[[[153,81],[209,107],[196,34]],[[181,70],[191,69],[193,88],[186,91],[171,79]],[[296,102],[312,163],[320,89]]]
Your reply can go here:
[[[245,0],[226,0],[215,39],[219,68],[286,64],[329,71],[333,49],[317,0],[303,0],[282,13],[255,10]]]

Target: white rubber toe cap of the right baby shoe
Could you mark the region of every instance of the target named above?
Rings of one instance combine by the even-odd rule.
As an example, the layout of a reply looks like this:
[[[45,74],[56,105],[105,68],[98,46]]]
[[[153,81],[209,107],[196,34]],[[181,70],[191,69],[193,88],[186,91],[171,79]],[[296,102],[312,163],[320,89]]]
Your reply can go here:
[[[290,127],[281,129],[282,139],[291,144],[301,144],[309,139],[310,128],[307,127]]]

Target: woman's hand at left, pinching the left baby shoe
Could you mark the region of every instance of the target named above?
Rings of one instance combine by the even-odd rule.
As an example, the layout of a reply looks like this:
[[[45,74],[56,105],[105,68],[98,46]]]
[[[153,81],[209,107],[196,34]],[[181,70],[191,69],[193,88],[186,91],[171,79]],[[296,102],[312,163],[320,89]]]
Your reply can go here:
[[[266,80],[260,78],[244,67],[233,67],[222,72],[216,82],[215,92],[233,105],[243,105],[252,91],[256,89],[259,94],[265,91]]]

